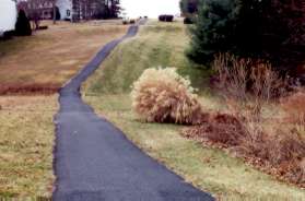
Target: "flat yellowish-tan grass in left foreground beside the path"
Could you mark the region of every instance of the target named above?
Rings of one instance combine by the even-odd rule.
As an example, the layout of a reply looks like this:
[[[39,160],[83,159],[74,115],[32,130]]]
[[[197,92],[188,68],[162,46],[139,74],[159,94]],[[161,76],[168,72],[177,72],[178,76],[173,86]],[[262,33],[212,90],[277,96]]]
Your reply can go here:
[[[2,96],[0,105],[0,200],[49,198],[57,96]]]

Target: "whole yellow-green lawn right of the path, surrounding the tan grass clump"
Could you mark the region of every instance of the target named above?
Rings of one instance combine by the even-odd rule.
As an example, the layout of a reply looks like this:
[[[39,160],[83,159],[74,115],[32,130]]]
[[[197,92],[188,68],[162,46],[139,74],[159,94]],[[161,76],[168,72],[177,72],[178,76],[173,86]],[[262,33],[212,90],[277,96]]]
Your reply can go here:
[[[151,67],[178,68],[199,88],[204,108],[223,108],[207,86],[210,72],[190,68],[184,55],[187,45],[187,28],[180,22],[150,22],[136,38],[119,45],[84,84],[84,99],[149,155],[221,200],[304,200],[304,190],[277,181],[223,151],[183,138],[183,127],[138,120],[131,111],[130,85]]]

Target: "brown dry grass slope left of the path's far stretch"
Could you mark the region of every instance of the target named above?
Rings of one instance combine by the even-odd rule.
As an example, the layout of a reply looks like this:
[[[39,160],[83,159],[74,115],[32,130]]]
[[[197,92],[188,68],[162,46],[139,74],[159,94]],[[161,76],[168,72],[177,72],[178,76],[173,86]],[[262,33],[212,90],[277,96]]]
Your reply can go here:
[[[128,28],[116,21],[47,24],[31,37],[0,42],[0,94],[55,92]]]

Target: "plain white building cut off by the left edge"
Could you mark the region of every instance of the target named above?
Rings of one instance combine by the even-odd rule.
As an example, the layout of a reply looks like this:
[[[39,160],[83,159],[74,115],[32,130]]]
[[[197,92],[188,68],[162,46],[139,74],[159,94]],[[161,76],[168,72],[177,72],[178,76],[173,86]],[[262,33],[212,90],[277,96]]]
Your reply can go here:
[[[0,36],[15,28],[16,15],[15,1],[0,0]]]

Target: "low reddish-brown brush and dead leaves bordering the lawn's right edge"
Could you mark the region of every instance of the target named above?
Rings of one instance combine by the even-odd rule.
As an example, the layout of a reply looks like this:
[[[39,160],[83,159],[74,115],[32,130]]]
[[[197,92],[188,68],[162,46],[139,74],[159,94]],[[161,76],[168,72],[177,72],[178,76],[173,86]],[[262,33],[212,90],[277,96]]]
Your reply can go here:
[[[294,129],[267,133],[232,115],[216,114],[183,131],[187,138],[233,151],[256,166],[305,187],[305,139]]]

